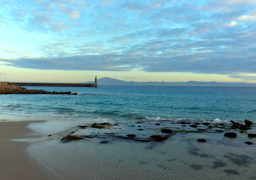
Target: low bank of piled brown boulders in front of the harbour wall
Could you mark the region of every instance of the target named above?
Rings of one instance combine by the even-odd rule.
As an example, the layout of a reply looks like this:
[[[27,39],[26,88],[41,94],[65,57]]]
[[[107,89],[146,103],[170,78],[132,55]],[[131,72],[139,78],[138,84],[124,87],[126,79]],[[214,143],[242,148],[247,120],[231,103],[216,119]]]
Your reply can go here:
[[[36,89],[26,89],[25,87],[10,84],[9,82],[0,83],[0,94],[72,94],[77,95],[77,93],[68,92],[49,92],[44,90]]]

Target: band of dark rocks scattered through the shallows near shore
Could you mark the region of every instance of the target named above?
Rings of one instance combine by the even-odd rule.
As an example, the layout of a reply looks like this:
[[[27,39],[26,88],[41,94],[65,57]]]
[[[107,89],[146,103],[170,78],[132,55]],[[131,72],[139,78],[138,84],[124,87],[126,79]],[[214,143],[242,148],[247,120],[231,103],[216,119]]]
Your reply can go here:
[[[253,127],[253,122],[248,120],[244,120],[243,123],[234,121],[230,123],[191,123],[186,121],[170,123],[146,123],[143,121],[121,124],[93,123],[74,127],[72,131],[67,132],[68,134],[65,137],[62,137],[61,142],[92,138],[101,139],[101,143],[106,143],[113,139],[161,142],[177,133],[222,133],[223,138],[227,137],[230,139],[236,139],[239,134],[247,134],[248,139],[253,139],[256,137]],[[197,141],[207,142],[207,139],[201,137]],[[252,145],[253,142],[245,140],[244,144]]]

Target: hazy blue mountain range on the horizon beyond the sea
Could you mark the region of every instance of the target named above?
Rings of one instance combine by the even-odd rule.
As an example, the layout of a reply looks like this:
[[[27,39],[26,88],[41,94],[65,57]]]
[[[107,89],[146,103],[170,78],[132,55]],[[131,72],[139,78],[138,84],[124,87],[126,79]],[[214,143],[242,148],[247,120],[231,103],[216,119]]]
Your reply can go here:
[[[93,83],[88,81],[86,83]],[[103,77],[98,79],[98,85],[113,85],[113,86],[229,86],[229,87],[256,87],[256,84],[247,84],[243,82],[134,82],[124,81],[118,79],[112,79],[109,77]]]

